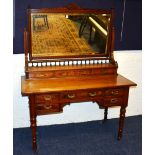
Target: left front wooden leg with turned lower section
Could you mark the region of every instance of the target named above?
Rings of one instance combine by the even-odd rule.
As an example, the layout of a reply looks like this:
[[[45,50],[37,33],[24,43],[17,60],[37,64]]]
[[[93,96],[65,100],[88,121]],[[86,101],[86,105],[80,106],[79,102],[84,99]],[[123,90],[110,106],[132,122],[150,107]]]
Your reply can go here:
[[[36,111],[35,111],[35,102],[34,95],[29,96],[29,107],[30,107],[30,123],[32,131],[32,149],[33,151],[37,150],[36,142]]]

